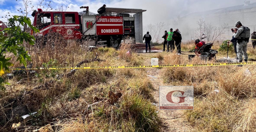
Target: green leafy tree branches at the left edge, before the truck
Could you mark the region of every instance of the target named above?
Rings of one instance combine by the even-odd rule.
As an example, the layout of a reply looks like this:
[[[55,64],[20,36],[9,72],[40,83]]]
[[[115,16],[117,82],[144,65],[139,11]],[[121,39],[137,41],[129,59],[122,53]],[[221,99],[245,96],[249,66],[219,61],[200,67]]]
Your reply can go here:
[[[13,54],[17,57],[16,61],[19,61],[24,66],[27,65],[27,61],[30,61],[30,55],[25,51],[22,46],[24,42],[31,45],[35,43],[35,38],[29,33],[23,32],[21,27],[28,25],[35,33],[39,30],[31,25],[31,21],[26,16],[13,16],[8,19],[8,28],[5,28],[0,32],[0,89],[4,89],[5,80],[2,78],[7,72],[9,67],[13,65],[10,62],[11,57],[6,57],[6,54]]]

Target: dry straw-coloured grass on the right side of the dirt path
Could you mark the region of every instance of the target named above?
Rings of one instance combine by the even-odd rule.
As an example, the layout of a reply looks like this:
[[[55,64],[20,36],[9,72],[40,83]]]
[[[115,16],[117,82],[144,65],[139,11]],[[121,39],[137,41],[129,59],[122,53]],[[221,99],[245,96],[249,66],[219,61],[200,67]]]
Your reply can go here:
[[[184,58],[164,56],[164,64],[185,64]],[[204,63],[195,57],[189,63]],[[213,62],[209,62],[213,63]],[[245,74],[249,69],[251,76]],[[194,86],[194,110],[186,119],[200,132],[255,132],[256,70],[254,66],[162,69],[169,85]],[[216,94],[214,90],[220,92]],[[250,107],[251,106],[251,107]],[[233,131],[232,131],[233,130]]]

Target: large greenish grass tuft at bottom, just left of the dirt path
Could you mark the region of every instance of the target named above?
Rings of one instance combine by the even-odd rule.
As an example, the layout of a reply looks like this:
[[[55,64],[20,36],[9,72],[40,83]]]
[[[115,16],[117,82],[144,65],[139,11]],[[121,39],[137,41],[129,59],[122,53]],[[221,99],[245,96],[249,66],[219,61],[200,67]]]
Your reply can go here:
[[[136,94],[125,95],[124,103],[121,105],[122,113],[121,121],[127,122],[133,126],[124,127],[122,131],[131,131],[135,128],[136,132],[159,132],[159,118],[156,113],[156,108],[147,99]],[[133,129],[131,129],[131,127]]]

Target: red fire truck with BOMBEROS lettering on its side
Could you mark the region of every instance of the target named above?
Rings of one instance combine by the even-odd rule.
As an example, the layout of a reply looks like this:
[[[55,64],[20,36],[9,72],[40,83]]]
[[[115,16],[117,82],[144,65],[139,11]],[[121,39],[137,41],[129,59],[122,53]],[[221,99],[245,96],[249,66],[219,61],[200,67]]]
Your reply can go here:
[[[80,13],[35,10],[33,26],[40,31],[35,36],[41,38],[54,33],[67,40],[86,39],[95,45],[103,43],[113,47],[118,47],[125,36],[142,42],[142,12],[146,10],[106,7],[106,14],[100,15],[89,12],[89,7],[80,8],[86,10]]]

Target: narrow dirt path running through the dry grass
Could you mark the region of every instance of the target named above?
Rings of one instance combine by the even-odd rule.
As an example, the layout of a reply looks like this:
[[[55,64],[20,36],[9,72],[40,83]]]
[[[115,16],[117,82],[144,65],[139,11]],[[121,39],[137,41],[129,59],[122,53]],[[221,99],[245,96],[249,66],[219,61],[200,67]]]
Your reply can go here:
[[[145,54],[144,54],[145,55]],[[143,56],[143,55],[142,55]],[[149,65],[150,63],[150,54],[145,56],[144,64]],[[191,132],[192,127],[188,122],[182,117],[184,116],[184,110],[159,110],[159,86],[168,86],[170,84],[163,83],[163,78],[160,75],[161,69],[147,69],[147,76],[151,80],[151,83],[154,86],[153,95],[155,99],[155,104],[157,110],[159,111],[158,115],[161,118],[163,125],[161,132]]]

